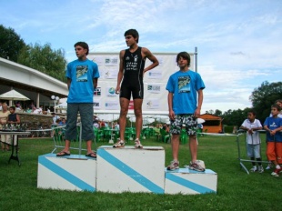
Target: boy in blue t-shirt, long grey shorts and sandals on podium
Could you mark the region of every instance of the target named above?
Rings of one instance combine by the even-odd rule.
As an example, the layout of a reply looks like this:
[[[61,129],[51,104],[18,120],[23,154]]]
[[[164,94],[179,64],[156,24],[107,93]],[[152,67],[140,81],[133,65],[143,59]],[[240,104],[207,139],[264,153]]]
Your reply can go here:
[[[66,67],[67,87],[67,123],[65,126],[65,148],[56,156],[70,155],[70,140],[76,139],[76,122],[78,112],[82,124],[82,139],[86,140],[86,156],[96,158],[91,145],[93,133],[93,93],[97,86],[99,72],[98,65],[86,58],[89,47],[85,42],[75,44],[78,59]]]

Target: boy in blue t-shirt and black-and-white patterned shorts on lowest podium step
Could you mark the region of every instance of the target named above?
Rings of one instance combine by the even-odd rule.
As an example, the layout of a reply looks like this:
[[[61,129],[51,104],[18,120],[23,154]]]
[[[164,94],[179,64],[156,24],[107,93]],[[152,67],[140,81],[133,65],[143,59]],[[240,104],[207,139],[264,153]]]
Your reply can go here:
[[[170,133],[172,134],[171,146],[173,161],[167,170],[179,168],[178,149],[179,136],[182,125],[186,125],[186,134],[189,136],[189,148],[191,155],[190,169],[205,171],[205,168],[196,162],[196,118],[200,116],[203,103],[204,82],[199,74],[189,69],[190,55],[181,52],[176,56],[176,63],[180,70],[170,75],[166,90],[170,118]],[[198,100],[196,100],[198,98]]]

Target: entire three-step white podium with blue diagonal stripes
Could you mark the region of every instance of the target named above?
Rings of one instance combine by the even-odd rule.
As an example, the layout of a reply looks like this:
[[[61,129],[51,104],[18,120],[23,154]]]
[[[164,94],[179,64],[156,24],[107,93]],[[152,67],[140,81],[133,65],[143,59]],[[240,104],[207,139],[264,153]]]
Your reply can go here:
[[[196,195],[217,193],[217,173],[188,168],[167,171],[161,146],[100,146],[97,158],[38,156],[38,188],[90,192]]]

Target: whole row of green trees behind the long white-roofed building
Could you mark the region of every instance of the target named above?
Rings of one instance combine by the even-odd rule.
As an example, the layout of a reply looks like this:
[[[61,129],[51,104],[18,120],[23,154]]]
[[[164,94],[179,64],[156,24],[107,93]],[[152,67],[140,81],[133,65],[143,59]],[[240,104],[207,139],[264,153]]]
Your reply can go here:
[[[53,50],[50,44],[25,44],[13,28],[4,25],[0,25],[0,56],[66,83],[64,49]]]

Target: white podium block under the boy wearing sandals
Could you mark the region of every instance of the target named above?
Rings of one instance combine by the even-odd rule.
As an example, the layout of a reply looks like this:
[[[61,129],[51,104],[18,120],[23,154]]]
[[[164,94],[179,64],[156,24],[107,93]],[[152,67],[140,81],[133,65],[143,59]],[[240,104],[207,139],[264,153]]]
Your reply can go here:
[[[86,156],[38,156],[38,188],[96,191],[96,159]]]

